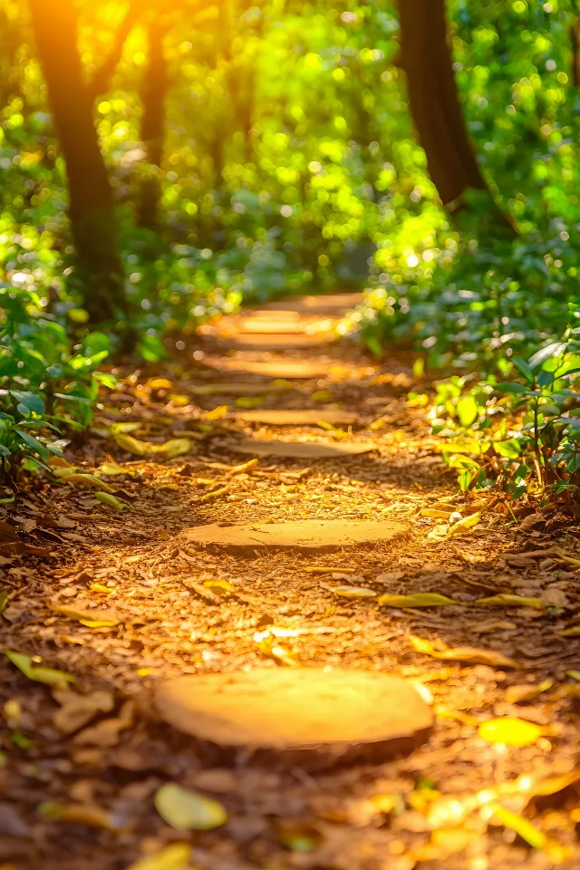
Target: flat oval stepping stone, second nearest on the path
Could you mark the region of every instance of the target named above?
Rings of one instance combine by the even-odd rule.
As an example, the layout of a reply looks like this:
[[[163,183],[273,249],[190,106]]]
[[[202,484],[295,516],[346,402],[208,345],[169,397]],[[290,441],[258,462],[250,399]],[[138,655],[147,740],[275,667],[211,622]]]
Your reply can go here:
[[[345,546],[372,546],[402,539],[407,527],[387,520],[295,519],[287,523],[213,523],[189,528],[191,546],[210,546],[230,552],[253,552],[260,547],[324,553]]]

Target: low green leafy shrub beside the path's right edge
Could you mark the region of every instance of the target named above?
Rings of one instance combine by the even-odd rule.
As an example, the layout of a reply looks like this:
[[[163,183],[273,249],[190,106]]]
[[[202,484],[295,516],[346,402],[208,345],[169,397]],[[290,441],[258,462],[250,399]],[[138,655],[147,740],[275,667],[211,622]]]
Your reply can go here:
[[[498,485],[514,498],[529,488],[580,489],[579,335],[568,330],[527,361],[507,362],[510,381],[489,376],[469,387],[456,376],[438,384],[431,423],[461,489]],[[425,404],[421,396],[411,402]]]

